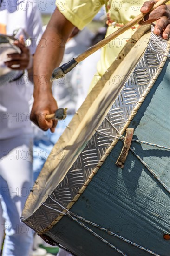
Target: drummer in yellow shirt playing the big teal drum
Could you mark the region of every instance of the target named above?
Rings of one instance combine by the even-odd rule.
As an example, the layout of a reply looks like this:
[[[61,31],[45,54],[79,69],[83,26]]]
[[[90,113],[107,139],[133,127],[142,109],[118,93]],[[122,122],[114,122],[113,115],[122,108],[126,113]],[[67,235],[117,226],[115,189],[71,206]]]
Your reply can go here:
[[[43,34],[43,38],[47,40],[46,49],[37,48],[35,54],[35,65],[34,70],[37,74],[34,84],[34,104],[31,113],[31,120],[37,124],[41,129],[47,130],[50,128],[54,132],[57,121],[55,120],[45,120],[39,119],[40,115],[47,115],[55,113],[57,109],[57,103],[52,96],[52,87],[50,83],[50,78],[52,71],[55,67],[59,67],[64,54],[65,43],[72,32],[74,27],[78,29],[83,29],[98,13],[103,4],[106,5],[107,17],[108,17],[108,31],[106,35],[111,34],[116,31],[118,27],[127,23],[135,16],[140,13],[148,13],[153,5],[157,1],[123,1],[119,0],[63,0],[63,8],[60,6],[60,1],[56,1],[57,8],[52,14],[51,20],[49,21],[46,31]],[[168,5],[162,5],[156,10],[147,14],[142,24],[156,22],[155,34],[159,35],[163,32],[163,38],[168,39],[170,35],[170,9]],[[118,25],[117,25],[118,24]],[[136,28],[135,28],[136,29]],[[107,44],[102,49],[101,61],[98,64],[98,75],[102,76],[111,63],[115,60],[118,53],[124,47],[122,43],[131,38],[134,34],[134,27],[123,33],[117,38],[120,45],[117,47],[116,39]],[[60,48],[59,45],[52,47],[51,38],[62,44]],[[115,45],[114,45],[115,44]],[[118,48],[115,51],[115,48]],[[41,58],[43,56],[43,58]],[[43,85],[39,83],[39,77],[44,75],[46,77],[46,83]],[[95,83],[94,83],[95,84]]]

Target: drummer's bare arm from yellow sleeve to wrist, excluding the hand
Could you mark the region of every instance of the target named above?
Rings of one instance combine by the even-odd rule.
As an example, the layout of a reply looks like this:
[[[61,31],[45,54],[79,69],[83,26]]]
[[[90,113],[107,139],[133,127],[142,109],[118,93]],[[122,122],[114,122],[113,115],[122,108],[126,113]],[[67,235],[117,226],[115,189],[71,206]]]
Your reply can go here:
[[[52,71],[62,61],[65,43],[74,27],[60,16],[59,11],[53,13],[35,53],[34,96],[41,91],[51,91]]]

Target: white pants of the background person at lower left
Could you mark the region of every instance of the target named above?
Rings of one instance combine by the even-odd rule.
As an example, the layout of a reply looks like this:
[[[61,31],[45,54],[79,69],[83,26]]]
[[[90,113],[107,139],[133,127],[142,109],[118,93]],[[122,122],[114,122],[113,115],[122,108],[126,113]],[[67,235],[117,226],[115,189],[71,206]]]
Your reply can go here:
[[[30,255],[33,231],[20,216],[33,186],[31,147],[32,140],[25,135],[0,140],[0,197],[5,219],[0,236],[6,234],[3,256]]]

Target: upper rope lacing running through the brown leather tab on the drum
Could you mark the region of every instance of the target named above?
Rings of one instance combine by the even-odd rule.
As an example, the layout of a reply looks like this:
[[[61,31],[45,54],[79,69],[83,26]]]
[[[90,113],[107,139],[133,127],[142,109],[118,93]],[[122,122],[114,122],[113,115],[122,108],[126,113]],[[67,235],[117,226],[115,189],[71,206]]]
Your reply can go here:
[[[111,138],[115,138],[115,139],[118,139],[118,140],[121,140],[121,141],[124,141],[125,137],[122,136],[118,129],[111,123],[111,121],[109,121],[109,119],[107,117],[105,117],[105,119],[111,124],[112,128],[114,128],[117,132],[118,132],[118,137],[116,136],[112,136],[110,134],[107,134],[107,133],[103,133],[101,131],[98,131],[96,130],[96,132],[98,133],[101,133],[101,134],[104,134],[104,135],[107,135]],[[132,141],[134,142],[137,142],[137,143],[141,143],[141,144],[146,144],[146,145],[149,145],[149,146],[152,146],[152,147],[156,147],[156,148],[163,148],[163,149],[167,149],[167,150],[170,150],[170,148],[168,147],[164,147],[164,146],[160,146],[160,145],[157,145],[157,144],[153,144],[153,143],[149,143],[149,142],[145,142],[145,141],[139,141],[139,140],[135,140],[135,139],[132,139]],[[148,171],[157,179],[157,181],[163,186],[163,188],[168,191],[168,193],[170,193],[170,189],[163,183],[163,181],[154,173],[154,171],[147,165],[147,163],[144,162],[144,160],[139,156],[137,155],[137,153],[132,149],[130,148],[131,152],[140,160],[140,162],[143,163],[143,165],[148,169]]]

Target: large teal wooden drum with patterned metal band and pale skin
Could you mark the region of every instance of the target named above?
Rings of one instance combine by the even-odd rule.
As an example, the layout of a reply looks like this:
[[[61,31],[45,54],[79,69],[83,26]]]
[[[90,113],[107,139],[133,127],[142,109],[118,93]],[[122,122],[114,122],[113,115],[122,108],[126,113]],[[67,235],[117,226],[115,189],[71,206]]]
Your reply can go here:
[[[59,138],[21,217],[46,242],[77,256],[169,255],[169,50],[152,28]]]

